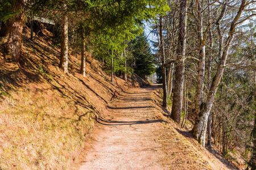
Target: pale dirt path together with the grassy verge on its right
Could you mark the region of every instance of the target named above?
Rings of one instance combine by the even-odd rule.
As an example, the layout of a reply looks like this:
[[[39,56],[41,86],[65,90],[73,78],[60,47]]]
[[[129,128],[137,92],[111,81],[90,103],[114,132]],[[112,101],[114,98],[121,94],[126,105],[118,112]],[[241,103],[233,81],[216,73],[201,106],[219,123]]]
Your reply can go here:
[[[77,160],[81,170],[236,169],[161,112],[160,87],[130,89],[108,105]]]

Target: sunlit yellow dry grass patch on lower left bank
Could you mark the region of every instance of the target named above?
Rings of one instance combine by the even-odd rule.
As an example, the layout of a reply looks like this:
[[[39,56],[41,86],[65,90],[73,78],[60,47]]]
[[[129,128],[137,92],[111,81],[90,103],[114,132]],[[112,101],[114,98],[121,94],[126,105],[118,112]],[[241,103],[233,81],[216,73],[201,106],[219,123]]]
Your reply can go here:
[[[96,111],[51,89],[19,88],[2,98],[0,167],[68,169],[73,152],[93,128]]]

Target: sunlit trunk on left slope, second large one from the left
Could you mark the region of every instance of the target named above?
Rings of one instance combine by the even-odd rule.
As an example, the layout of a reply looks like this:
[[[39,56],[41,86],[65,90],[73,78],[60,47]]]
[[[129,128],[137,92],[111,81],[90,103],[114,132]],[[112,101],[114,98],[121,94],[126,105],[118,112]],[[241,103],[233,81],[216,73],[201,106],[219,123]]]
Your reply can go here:
[[[68,73],[68,16],[63,15],[63,24],[61,25],[61,49],[60,49],[60,69]]]

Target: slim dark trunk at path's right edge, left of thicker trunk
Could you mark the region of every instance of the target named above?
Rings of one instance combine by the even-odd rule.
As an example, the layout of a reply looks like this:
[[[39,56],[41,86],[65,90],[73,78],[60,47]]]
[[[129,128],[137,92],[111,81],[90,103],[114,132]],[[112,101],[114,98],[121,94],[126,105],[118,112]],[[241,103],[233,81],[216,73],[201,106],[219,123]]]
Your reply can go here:
[[[162,78],[163,78],[163,107],[167,108],[167,85],[166,85],[166,58],[164,56],[164,41],[163,41],[163,18],[160,15],[160,53],[162,59]]]

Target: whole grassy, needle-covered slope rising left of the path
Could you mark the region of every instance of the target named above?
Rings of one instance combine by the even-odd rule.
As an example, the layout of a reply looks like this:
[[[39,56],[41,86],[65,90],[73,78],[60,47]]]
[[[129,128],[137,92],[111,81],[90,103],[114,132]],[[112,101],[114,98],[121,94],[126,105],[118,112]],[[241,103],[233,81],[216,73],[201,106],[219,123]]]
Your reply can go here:
[[[0,167],[70,169],[95,118],[131,83],[119,78],[110,83],[89,57],[83,78],[80,55],[71,52],[65,75],[51,33],[44,30],[32,42],[29,32],[24,29],[20,67],[0,54]]]

